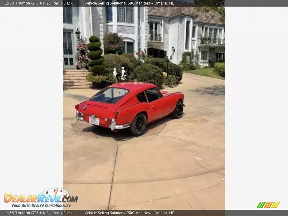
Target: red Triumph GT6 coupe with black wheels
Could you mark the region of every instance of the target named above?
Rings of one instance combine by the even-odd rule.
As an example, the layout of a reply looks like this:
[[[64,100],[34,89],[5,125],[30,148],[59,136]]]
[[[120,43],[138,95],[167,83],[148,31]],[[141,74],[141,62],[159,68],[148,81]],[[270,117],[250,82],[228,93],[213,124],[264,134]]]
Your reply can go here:
[[[75,105],[76,121],[119,130],[130,128],[141,136],[146,125],[165,116],[179,119],[183,113],[184,95],[159,91],[144,82],[120,82],[103,88],[89,100]]]

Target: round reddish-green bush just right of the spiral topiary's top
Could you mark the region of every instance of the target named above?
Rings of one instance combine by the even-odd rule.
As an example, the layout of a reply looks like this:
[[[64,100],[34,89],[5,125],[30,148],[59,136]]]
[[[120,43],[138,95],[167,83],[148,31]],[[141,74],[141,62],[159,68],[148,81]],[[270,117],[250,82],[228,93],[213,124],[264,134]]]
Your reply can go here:
[[[105,54],[121,52],[124,46],[124,40],[118,33],[108,32],[104,34]]]

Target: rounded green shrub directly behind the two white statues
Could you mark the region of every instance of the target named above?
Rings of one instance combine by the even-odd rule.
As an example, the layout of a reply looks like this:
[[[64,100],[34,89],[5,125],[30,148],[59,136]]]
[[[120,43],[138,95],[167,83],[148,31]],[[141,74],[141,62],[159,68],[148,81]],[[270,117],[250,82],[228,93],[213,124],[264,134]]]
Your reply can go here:
[[[134,74],[132,73],[131,63],[128,58],[117,54],[107,54],[104,56],[103,63],[106,67],[107,73],[109,74],[113,73],[113,68],[116,68],[117,79],[121,78],[121,67],[124,67],[124,70],[126,71],[126,79],[133,80]]]

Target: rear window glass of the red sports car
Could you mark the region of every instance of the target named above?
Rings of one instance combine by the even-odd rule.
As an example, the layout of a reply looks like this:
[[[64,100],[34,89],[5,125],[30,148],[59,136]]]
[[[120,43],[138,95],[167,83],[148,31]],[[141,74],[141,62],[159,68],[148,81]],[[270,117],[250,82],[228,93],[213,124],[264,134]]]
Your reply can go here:
[[[107,104],[116,104],[121,98],[129,92],[124,88],[103,88],[96,95],[94,95],[90,101],[99,101]]]

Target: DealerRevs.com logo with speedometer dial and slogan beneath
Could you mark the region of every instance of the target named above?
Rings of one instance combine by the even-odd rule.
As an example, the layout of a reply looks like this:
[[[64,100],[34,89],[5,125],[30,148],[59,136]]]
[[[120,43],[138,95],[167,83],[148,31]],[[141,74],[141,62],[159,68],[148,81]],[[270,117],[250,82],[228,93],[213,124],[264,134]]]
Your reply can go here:
[[[4,194],[4,202],[12,202],[12,207],[70,207],[72,202],[77,202],[78,196],[60,187],[44,190],[38,195],[12,195]]]

